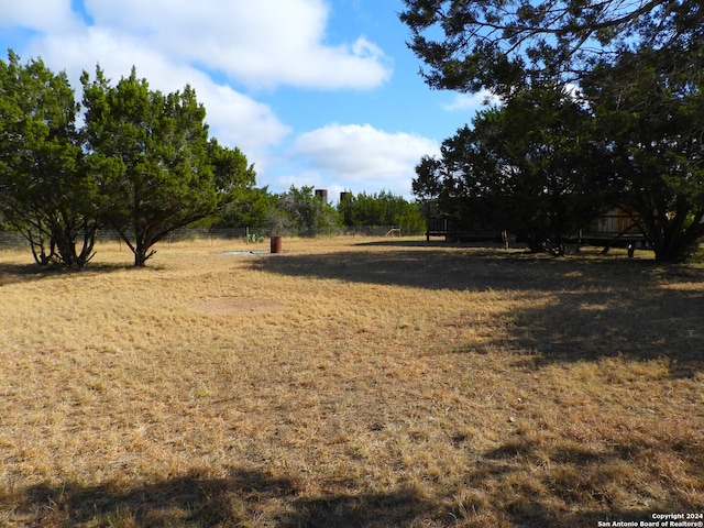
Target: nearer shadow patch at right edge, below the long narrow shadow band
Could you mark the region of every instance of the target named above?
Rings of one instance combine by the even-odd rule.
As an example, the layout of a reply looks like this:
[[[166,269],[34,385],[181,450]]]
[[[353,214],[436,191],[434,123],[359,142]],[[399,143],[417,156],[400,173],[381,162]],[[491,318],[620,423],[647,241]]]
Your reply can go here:
[[[548,306],[512,315],[507,348],[530,351],[527,366],[600,358],[642,361],[667,358],[670,373],[690,377],[704,370],[704,294],[670,288],[613,287],[561,292]]]

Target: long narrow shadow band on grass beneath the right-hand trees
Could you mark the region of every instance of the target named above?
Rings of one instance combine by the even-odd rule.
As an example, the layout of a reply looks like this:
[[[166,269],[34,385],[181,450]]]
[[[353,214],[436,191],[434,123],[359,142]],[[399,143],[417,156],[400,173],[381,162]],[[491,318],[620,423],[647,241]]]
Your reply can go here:
[[[585,287],[627,290],[648,286],[661,276],[681,274],[704,280],[704,270],[672,266],[625,256],[554,258],[524,251],[418,245],[399,249],[360,249],[322,254],[282,254],[261,258],[252,267],[294,277],[451,290],[560,292]],[[403,249],[402,249],[403,248]]]

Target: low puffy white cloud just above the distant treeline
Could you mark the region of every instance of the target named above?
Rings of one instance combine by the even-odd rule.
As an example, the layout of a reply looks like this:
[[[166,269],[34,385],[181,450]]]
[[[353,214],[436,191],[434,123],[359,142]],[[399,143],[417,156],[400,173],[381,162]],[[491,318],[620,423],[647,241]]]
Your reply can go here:
[[[370,124],[333,123],[301,134],[292,152],[326,174],[328,187],[349,183],[358,193],[383,188],[407,196],[416,165],[424,155],[438,154],[439,147],[418,135],[388,133]]]

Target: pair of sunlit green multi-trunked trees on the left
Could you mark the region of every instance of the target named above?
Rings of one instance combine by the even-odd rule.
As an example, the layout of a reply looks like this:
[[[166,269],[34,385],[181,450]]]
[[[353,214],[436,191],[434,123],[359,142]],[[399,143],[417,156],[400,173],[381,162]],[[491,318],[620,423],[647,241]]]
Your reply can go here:
[[[255,196],[254,167],[209,138],[190,87],[154,91],[134,69],[112,86],[100,68],[81,84],[77,130],[65,74],[42,61],[21,65],[12,52],[0,62],[0,218],[37,263],[82,267],[108,223],[143,266],[175,229]]]

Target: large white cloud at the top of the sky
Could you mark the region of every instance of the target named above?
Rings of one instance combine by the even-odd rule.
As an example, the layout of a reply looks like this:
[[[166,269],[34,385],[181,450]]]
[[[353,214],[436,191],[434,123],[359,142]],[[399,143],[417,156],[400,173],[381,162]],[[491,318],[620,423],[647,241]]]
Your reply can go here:
[[[253,87],[371,88],[388,79],[364,37],[326,42],[322,0],[87,0],[96,26]]]

